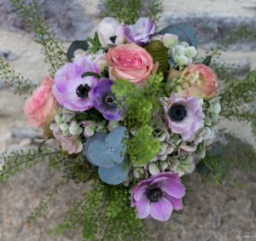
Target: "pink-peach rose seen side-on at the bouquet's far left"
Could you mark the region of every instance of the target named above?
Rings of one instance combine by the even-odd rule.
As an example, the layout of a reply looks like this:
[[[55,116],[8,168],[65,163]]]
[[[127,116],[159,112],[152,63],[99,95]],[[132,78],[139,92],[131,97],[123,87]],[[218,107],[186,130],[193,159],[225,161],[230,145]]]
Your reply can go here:
[[[44,128],[45,124],[55,109],[56,100],[51,93],[54,81],[51,77],[45,77],[40,87],[26,100],[24,111],[28,117],[27,123],[35,128]]]

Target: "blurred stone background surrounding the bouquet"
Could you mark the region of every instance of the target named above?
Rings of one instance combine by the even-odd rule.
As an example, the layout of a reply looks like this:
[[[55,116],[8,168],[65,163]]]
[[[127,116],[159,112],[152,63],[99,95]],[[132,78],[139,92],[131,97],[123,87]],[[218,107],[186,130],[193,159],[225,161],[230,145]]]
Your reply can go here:
[[[90,35],[101,20],[102,4],[98,0],[41,0],[44,18],[58,39],[73,41]],[[216,45],[236,26],[252,26],[256,32],[256,1],[254,0],[166,0],[160,26],[187,22],[195,26],[201,42],[201,54]],[[256,67],[253,43],[241,42],[224,55],[226,61],[246,63]],[[48,66],[40,47],[34,42],[26,23],[20,20],[9,0],[0,0],[0,56],[15,70],[35,83],[47,75]],[[26,129],[22,111],[23,97],[13,95],[0,80],[0,151],[10,151],[37,145],[38,132]],[[223,121],[221,127],[234,131],[255,145],[246,123]],[[173,215],[172,221],[162,224],[148,221],[156,239],[173,241],[256,241],[256,176],[234,170],[239,180],[247,182],[245,189],[227,186],[208,186],[199,177],[191,177],[193,192],[185,209]],[[49,238],[46,232],[63,218],[68,206],[79,198],[86,186],[65,187],[38,224],[26,225],[26,216],[40,202],[49,186],[60,174],[44,164],[21,172],[0,186],[1,241],[79,241],[80,233],[71,232],[61,238]],[[137,241],[137,240],[136,240]],[[139,241],[139,240],[138,240]]]

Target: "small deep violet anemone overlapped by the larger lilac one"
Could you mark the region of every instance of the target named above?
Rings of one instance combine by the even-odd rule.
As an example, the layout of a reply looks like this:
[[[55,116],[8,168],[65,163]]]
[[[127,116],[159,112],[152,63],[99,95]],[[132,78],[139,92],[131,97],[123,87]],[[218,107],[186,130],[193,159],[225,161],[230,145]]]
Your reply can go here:
[[[121,119],[121,115],[115,103],[115,96],[111,90],[112,85],[112,80],[102,77],[96,83],[96,87],[92,89],[91,95],[96,110],[101,112],[105,119],[116,121]]]

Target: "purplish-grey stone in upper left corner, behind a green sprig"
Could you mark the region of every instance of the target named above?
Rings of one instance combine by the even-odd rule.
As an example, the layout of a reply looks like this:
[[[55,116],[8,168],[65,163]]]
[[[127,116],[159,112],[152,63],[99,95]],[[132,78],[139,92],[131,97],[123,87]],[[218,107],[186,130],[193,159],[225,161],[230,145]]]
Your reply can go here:
[[[31,2],[31,1],[27,1]],[[90,35],[93,20],[76,0],[39,0],[44,20],[56,37],[64,41],[82,40]],[[9,0],[0,3],[0,24],[10,29],[27,30],[26,22],[12,9]]]

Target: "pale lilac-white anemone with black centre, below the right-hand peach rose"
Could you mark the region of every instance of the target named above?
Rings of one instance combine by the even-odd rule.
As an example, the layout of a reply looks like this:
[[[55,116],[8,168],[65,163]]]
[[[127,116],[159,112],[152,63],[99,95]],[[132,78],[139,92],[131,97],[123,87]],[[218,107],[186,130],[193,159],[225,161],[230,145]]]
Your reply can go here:
[[[173,133],[181,135],[183,141],[188,141],[203,127],[205,115],[201,99],[191,96],[178,98],[174,93],[171,98],[163,99],[163,106],[168,127]]]

